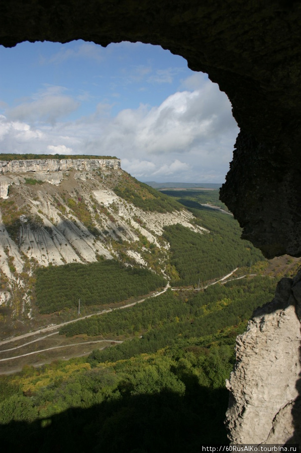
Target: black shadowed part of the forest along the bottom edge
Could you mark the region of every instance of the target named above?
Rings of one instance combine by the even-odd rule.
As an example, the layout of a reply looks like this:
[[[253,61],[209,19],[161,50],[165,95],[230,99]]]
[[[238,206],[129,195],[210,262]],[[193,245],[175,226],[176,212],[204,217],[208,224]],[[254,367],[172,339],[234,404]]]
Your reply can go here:
[[[32,423],[0,427],[3,451],[24,453],[198,453],[200,445],[227,443],[221,426],[226,389],[209,390],[190,376],[184,397],[170,391],[131,395],[89,409],[72,408]],[[21,446],[22,445],[22,446]]]

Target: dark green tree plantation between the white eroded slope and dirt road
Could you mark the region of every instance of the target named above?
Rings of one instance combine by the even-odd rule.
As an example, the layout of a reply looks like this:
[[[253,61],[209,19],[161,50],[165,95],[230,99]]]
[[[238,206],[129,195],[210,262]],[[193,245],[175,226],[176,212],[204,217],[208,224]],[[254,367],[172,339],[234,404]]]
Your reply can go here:
[[[53,313],[77,307],[79,298],[82,307],[111,304],[165,284],[148,269],[125,267],[115,260],[48,266],[36,270],[36,304],[41,313]]]

